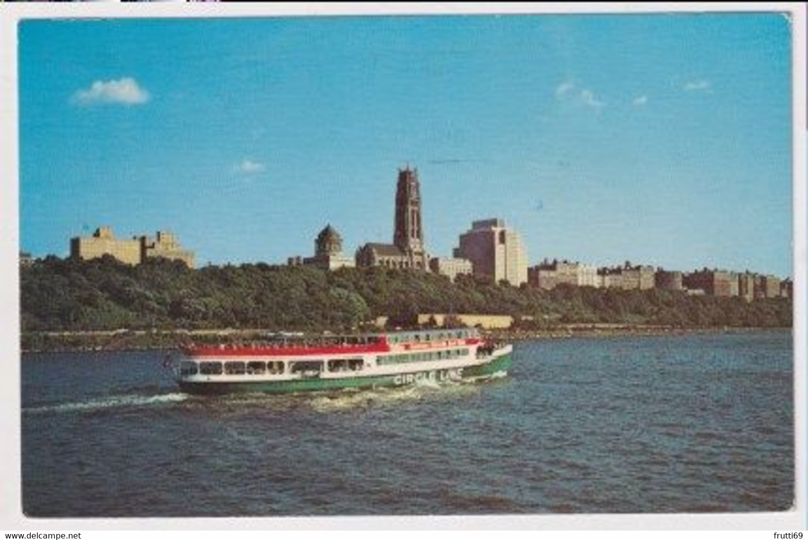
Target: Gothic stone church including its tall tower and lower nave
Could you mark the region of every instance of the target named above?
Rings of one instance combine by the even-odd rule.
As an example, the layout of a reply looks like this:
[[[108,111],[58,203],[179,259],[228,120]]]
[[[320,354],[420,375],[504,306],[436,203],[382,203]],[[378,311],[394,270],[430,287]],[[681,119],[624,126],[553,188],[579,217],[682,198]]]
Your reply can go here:
[[[418,170],[398,170],[393,244],[371,242],[356,251],[357,266],[428,270],[424,249]]]

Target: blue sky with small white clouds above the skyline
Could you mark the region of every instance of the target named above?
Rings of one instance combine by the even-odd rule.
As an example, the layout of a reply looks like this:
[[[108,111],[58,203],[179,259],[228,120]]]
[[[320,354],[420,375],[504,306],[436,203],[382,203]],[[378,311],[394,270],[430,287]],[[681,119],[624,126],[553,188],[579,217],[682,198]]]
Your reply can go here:
[[[200,264],[392,241],[419,169],[430,253],[501,217],[528,262],[792,274],[779,15],[33,20],[20,243],[109,224]]]

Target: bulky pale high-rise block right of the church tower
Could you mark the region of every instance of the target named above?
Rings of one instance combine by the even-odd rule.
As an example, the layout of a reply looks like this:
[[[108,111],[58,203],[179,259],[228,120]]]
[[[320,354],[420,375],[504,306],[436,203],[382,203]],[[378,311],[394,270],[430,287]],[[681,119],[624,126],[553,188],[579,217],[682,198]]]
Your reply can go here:
[[[473,221],[469,231],[461,234],[455,257],[469,259],[474,275],[498,283],[504,279],[515,286],[528,282],[528,256],[522,239],[504,220]]]

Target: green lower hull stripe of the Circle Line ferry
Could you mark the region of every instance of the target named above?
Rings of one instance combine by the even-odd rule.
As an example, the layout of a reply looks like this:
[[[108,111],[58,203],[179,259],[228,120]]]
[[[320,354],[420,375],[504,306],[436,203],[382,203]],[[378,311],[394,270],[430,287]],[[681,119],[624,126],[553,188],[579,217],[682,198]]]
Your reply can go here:
[[[489,377],[494,373],[507,371],[511,366],[511,354],[505,354],[492,362],[478,366],[463,368],[463,379]],[[301,391],[341,390],[343,388],[374,388],[406,386],[431,374],[432,378],[441,380],[448,377],[454,369],[420,370],[401,375],[378,375],[374,377],[349,377],[345,379],[297,379],[293,381],[261,381],[255,383],[190,383],[179,382],[179,389],[192,394],[231,394],[234,392],[268,392],[283,394]]]

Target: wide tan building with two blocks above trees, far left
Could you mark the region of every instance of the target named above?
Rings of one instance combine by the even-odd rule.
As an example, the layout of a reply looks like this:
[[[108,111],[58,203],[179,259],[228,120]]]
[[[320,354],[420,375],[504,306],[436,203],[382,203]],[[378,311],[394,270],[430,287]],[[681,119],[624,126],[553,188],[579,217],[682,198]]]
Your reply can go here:
[[[141,264],[151,257],[164,257],[185,262],[194,267],[194,253],[179,247],[179,241],[171,232],[158,231],[157,237],[133,237],[122,240],[112,234],[111,227],[99,227],[91,237],[70,239],[70,257],[74,259],[95,259],[112,255],[120,262],[130,265]]]

